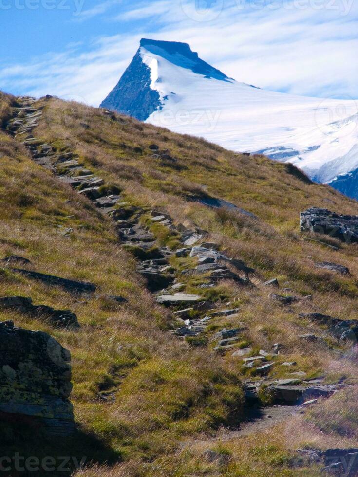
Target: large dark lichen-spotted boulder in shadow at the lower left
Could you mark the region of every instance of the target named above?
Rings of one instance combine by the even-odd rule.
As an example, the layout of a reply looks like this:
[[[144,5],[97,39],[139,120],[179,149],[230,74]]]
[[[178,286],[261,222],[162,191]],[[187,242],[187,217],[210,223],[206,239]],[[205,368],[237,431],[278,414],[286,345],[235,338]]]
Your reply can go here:
[[[71,355],[42,331],[0,323],[0,411],[38,419],[49,434],[75,429]]]

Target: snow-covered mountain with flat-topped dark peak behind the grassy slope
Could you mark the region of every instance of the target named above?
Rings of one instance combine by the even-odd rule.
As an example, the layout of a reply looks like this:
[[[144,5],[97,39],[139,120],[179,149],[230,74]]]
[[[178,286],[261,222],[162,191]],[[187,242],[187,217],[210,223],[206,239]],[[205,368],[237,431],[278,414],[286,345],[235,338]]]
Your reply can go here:
[[[262,90],[227,77],[186,43],[142,39],[101,107],[233,151],[289,161],[315,181],[358,198],[358,103],[353,100]]]

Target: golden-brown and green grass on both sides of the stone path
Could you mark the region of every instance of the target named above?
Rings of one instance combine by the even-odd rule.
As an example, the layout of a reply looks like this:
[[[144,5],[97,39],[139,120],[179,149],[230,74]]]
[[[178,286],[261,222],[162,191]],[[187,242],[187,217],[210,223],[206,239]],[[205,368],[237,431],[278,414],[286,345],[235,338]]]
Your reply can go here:
[[[1,97],[1,117],[6,117],[9,101]],[[356,214],[356,202],[331,188],[309,184],[287,165],[263,156],[236,155],[130,118],[111,120],[102,110],[75,103],[54,99],[38,105],[45,109],[35,135],[58,150],[75,150],[81,162],[95,169],[106,183],[124,189],[128,202],[163,207],[178,222],[202,226],[232,256],[256,269],[256,284],[277,276],[294,294],[313,295],[312,302],[301,302],[288,311],[268,299],[268,289],[248,291],[232,283],[220,285],[217,296],[240,304],[240,321],[248,326],[246,342],[257,349],[282,342],[289,349],[285,360],[297,361],[297,369],[311,375],[324,370],[333,381],[345,375],[355,382],[355,370],[349,363],[336,362],[324,349],[302,347],[297,335],[308,332],[299,312],[357,318],[357,247],[342,244],[339,251],[333,251],[303,240],[298,226],[300,211],[309,206]],[[175,165],[154,159],[148,150],[151,143],[168,149],[178,159]],[[110,221],[32,163],[25,149],[5,134],[0,136],[0,153],[1,255],[22,255],[38,271],[93,281],[99,292],[122,294],[129,300],[113,308],[100,297],[75,298],[9,271],[2,274],[1,295],[31,296],[36,304],[70,308],[82,325],[74,334],[13,316],[18,325],[51,333],[73,354],[72,400],[88,443],[87,447],[78,442],[72,445],[99,461],[115,456],[129,461],[125,464],[129,467],[115,469],[113,475],[143,474],[142,458],[157,459],[152,468],[146,466],[151,475],[168,475],[174,468],[180,469],[178,475],[207,469],[197,459],[195,447],[192,452],[165,456],[177,449],[179,441],[211,432],[240,412],[239,380],[245,377],[240,362],[230,353],[213,354],[211,344],[196,349],[173,339],[166,331],[169,315],[143,288],[134,260],[115,242]],[[204,190],[255,213],[259,222],[186,200]],[[62,235],[66,228],[74,229],[70,238]],[[336,242],[330,239],[330,243]],[[352,275],[340,277],[313,267],[314,261],[323,260],[349,266]],[[195,283],[188,281],[187,290],[195,291]],[[2,315],[9,317],[9,313]],[[218,327],[225,324],[235,326],[235,319],[215,323]],[[115,403],[97,399],[100,391],[111,389],[116,392]],[[227,451],[236,462],[231,464],[232,472],[283,475],[288,465],[286,451],[301,441],[288,443],[279,432],[275,436],[270,437],[271,447],[260,437],[245,440],[245,446],[230,444]],[[103,446],[98,453],[96,439]],[[253,460],[252,455],[256,456]],[[92,474],[87,471],[86,475]]]

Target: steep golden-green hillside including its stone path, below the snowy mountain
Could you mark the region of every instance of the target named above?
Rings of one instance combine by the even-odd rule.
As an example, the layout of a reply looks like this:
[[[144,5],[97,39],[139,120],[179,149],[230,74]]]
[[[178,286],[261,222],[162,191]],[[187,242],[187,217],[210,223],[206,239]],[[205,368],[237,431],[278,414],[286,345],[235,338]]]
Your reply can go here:
[[[357,246],[300,232],[301,211],[314,206],[354,215],[355,201],[311,183],[292,165],[105,110],[2,95],[0,112],[0,258],[31,262],[3,262],[1,296],[71,310],[80,325],[60,329],[39,316],[0,311],[3,320],[46,331],[72,353],[78,429],[47,443],[43,455],[86,456],[93,465],[81,476],[297,476],[316,472],[307,462],[298,470],[295,451],[303,446],[358,446],[354,418],[345,418],[344,429],[354,430],[342,438],[342,427],[329,428],[326,417],[340,387],[355,392],[357,372],[346,353],[352,340],[327,334],[308,315],[358,318]],[[198,251],[207,268],[196,269],[195,240],[211,249],[210,256]],[[177,253],[187,247],[191,252]],[[225,262],[216,275],[215,254]],[[350,274],[317,266],[324,262]],[[15,268],[96,290],[70,293]],[[273,278],[279,288],[265,285]],[[178,291],[196,295],[194,305],[183,306],[185,297],[177,306],[160,304]],[[183,308],[191,310],[173,314]],[[243,359],[255,355],[267,369],[245,367]],[[295,403],[289,412],[279,407],[272,426],[261,419],[257,428],[240,427],[252,413],[250,389],[258,388],[254,401],[264,416],[261,406],[274,403],[269,383],[293,380],[306,395],[316,378],[319,397],[338,392],[311,414]],[[38,455],[39,441],[29,443],[32,429],[3,425],[9,455],[19,446]]]

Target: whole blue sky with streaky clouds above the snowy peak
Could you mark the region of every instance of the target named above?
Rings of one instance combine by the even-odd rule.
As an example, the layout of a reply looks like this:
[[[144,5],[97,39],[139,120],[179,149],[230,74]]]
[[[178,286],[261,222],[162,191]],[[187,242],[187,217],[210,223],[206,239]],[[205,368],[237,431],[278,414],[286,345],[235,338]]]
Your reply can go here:
[[[358,98],[357,0],[0,0],[0,89],[97,106],[141,37],[184,41],[238,81]]]

